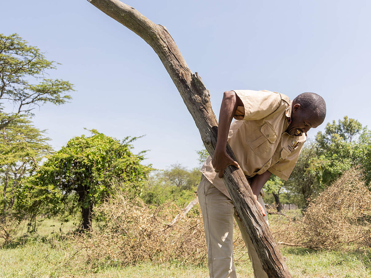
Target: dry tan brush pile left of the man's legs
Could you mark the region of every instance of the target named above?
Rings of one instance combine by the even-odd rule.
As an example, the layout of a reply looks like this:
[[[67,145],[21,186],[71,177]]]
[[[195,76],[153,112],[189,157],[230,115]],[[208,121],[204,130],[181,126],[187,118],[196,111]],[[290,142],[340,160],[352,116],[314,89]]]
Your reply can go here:
[[[202,217],[183,216],[169,226],[180,211],[174,203],[149,207],[123,193],[95,208],[105,224],[102,229],[73,237],[79,255],[93,265],[126,266],[141,261],[200,263],[207,258]]]

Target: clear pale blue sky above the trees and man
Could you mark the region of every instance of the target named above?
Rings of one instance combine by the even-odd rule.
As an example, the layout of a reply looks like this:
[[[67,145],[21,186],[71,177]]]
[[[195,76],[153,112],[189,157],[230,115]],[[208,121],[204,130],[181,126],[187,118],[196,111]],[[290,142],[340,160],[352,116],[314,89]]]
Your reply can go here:
[[[75,85],[73,99],[44,105],[33,118],[58,150],[97,129],[141,136],[147,162],[197,166],[200,135],[160,59],[140,37],[86,0],[1,1],[0,33],[18,33],[62,63],[50,78]],[[371,126],[371,1],[128,0],[167,27],[219,116],[224,91],[267,89],[293,99],[315,92],[325,123],[348,115]],[[318,130],[309,131],[314,138]]]

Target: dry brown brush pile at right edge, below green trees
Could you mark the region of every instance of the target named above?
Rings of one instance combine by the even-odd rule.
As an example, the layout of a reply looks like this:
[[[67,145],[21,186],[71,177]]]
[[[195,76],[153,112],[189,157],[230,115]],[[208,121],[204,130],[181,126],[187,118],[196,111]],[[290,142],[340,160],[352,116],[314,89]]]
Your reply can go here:
[[[350,169],[308,206],[303,218],[281,217],[277,241],[312,249],[361,251],[371,248],[371,192],[359,169]]]

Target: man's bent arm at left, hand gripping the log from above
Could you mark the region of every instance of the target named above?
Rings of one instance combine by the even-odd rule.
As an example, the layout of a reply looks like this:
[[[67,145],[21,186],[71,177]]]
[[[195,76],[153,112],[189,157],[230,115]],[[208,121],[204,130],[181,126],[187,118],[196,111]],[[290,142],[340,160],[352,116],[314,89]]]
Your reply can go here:
[[[240,168],[237,161],[234,161],[226,151],[229,128],[238,106],[243,106],[239,96],[233,91],[224,92],[220,105],[218,138],[213,160],[211,160],[214,171],[219,173],[219,178],[223,177],[224,170],[228,165],[234,165]]]

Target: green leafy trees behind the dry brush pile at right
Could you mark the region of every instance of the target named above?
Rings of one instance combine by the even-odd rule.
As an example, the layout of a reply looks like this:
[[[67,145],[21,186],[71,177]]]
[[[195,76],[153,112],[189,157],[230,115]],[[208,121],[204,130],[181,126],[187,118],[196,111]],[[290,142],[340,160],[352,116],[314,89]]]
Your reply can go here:
[[[305,209],[309,202],[328,188],[345,171],[360,167],[365,185],[371,181],[371,131],[355,119],[348,118],[327,123],[324,132],[306,142],[293,172],[280,187],[279,179],[271,178],[268,189],[280,188],[288,202]],[[276,180],[276,182],[272,182]],[[269,191],[268,191],[269,192]]]

